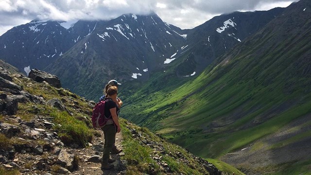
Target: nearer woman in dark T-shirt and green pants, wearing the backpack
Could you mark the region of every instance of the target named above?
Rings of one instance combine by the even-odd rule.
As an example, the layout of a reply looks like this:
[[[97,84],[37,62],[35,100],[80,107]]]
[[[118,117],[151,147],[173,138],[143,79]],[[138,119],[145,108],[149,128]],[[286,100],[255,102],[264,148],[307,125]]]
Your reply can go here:
[[[115,86],[112,86],[107,89],[107,97],[104,98],[104,100],[107,100],[105,103],[105,110],[104,114],[105,116],[112,116],[113,123],[112,124],[106,124],[104,127],[102,127],[102,130],[104,131],[104,154],[102,159],[102,170],[111,169],[114,167],[113,162],[116,160],[109,158],[110,151],[114,145],[114,141],[116,139],[116,130],[119,133],[121,131],[118,115],[119,107],[114,102],[113,99],[117,99],[118,95],[118,89]]]

